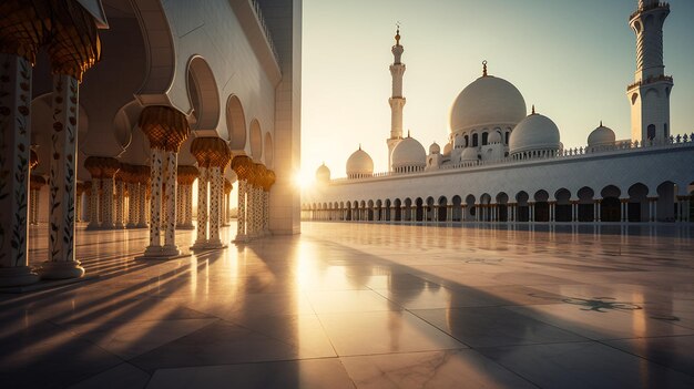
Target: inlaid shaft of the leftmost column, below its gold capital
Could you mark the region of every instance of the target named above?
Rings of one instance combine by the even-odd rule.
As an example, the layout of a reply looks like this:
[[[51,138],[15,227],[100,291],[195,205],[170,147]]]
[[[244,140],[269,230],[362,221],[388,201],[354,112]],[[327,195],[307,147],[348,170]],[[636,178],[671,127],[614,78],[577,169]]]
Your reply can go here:
[[[39,279],[28,257],[31,71],[24,58],[0,54],[0,286]]]

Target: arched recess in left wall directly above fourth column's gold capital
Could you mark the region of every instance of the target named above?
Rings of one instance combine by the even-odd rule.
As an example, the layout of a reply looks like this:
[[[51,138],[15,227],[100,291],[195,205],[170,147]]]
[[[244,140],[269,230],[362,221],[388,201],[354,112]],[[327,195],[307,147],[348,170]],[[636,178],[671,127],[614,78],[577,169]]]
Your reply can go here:
[[[186,89],[191,102],[191,127],[214,131],[220,124],[220,91],[212,69],[200,55],[193,55],[187,65]]]

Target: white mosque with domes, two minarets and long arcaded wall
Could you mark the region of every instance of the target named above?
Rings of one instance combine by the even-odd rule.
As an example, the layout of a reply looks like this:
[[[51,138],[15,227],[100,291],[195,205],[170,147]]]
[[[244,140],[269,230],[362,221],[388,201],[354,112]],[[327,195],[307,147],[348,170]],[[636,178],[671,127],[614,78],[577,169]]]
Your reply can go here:
[[[558,125],[528,106],[509,81],[489,73],[467,85],[450,109],[443,147],[428,152],[402,132],[399,30],[392,47],[388,172],[375,173],[355,151],[347,177],[324,164],[302,198],[302,217],[353,222],[691,222],[694,214],[694,134],[673,134],[664,73],[663,24],[670,6],[639,0],[630,17],[636,34],[635,81],[626,88],[631,139],[600,123],[586,144],[567,149]]]

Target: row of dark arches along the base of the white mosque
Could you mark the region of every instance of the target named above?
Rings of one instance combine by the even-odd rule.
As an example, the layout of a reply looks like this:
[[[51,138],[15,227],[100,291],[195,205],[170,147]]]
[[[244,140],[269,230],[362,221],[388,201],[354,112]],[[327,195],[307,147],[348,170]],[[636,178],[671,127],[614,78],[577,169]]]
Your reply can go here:
[[[688,195],[677,196],[672,182],[654,191],[636,183],[622,191],[615,185],[601,190],[584,186],[575,193],[560,188],[552,193],[521,191],[513,197],[504,192],[479,196],[396,197],[304,204],[302,217],[312,221],[355,222],[690,222],[694,218],[694,183]],[[650,196],[653,193],[656,195]]]

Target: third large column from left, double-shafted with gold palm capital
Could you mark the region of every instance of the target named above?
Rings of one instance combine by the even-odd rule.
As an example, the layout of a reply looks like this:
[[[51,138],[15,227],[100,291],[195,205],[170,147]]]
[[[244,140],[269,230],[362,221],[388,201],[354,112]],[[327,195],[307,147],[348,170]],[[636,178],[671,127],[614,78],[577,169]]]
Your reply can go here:
[[[143,257],[175,258],[181,256],[175,242],[177,154],[191,129],[183,113],[163,105],[145,106],[140,113],[139,125],[150,140],[152,152],[150,245]],[[162,213],[166,214],[163,226]],[[162,227],[165,229],[164,245],[161,242]]]

